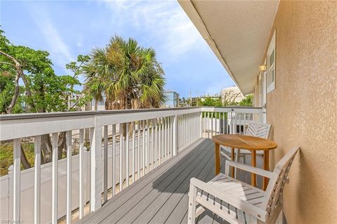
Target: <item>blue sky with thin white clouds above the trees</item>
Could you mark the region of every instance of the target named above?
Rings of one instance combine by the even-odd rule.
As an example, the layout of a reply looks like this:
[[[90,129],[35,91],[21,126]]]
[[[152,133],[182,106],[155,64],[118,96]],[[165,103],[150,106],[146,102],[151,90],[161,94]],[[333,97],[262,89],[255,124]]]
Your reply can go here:
[[[234,82],[177,1],[1,1],[1,29],[13,44],[51,53],[57,74],[67,62],[103,47],[114,34],[157,51],[166,89],[181,96],[218,93]]]

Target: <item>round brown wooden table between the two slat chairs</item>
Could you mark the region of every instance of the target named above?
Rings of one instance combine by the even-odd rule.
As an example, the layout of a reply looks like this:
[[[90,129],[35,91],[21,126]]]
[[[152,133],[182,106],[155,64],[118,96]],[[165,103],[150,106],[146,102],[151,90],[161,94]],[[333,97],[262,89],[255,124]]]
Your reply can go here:
[[[212,137],[216,144],[216,175],[220,173],[220,145],[232,149],[232,160],[234,161],[234,149],[251,151],[251,166],[256,167],[256,151],[263,150],[263,169],[269,171],[269,150],[274,150],[277,144],[269,139],[244,135],[217,135]],[[232,177],[234,169],[232,168]],[[263,190],[267,187],[268,178],[263,178]],[[251,173],[251,185],[256,186],[256,174]]]

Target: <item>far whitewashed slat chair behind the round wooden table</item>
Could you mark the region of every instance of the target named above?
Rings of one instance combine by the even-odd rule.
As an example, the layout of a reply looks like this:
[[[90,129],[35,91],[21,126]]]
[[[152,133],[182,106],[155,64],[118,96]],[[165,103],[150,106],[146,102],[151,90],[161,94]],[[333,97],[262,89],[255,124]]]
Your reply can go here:
[[[244,135],[246,136],[255,136],[255,137],[260,137],[260,138],[269,138],[270,136],[270,129],[271,125],[270,124],[260,124],[260,123],[249,123],[247,126],[246,131],[244,132]],[[232,150],[229,147],[221,147],[221,155],[223,157],[226,157],[227,159],[231,159],[227,154],[231,154]],[[251,151],[249,150],[235,150],[235,161],[239,162],[239,158],[243,158],[244,164],[246,164],[246,156],[250,155]],[[263,151],[256,151],[256,155],[259,157],[263,157]]]

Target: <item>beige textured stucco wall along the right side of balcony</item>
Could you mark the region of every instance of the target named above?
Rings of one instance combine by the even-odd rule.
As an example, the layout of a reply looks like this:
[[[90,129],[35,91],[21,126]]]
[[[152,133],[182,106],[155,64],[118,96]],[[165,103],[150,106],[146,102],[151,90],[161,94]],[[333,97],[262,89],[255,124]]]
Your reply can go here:
[[[281,1],[275,18],[276,88],[267,122],[273,167],[301,148],[284,194],[288,223],[337,223],[337,1]]]

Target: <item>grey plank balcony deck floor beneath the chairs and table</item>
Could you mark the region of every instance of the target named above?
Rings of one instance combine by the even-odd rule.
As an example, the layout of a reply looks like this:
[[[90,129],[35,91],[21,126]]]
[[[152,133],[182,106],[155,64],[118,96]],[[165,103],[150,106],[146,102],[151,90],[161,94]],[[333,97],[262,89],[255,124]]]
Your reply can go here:
[[[200,139],[158,169],[88,214],[80,223],[187,223],[190,178],[208,181],[215,176],[214,144]],[[225,169],[225,159],[221,170]],[[238,172],[238,178],[250,181]],[[260,182],[260,181],[258,181]],[[199,216],[199,223],[223,223],[211,212]]]

